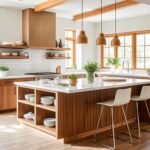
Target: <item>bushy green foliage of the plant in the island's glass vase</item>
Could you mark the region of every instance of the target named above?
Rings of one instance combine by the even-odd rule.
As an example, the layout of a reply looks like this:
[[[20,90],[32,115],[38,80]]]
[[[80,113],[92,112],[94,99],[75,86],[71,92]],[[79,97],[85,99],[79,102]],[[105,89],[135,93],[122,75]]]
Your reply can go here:
[[[97,62],[87,62],[86,65],[84,65],[84,69],[88,72],[88,73],[94,73],[95,71],[99,70],[99,66]]]

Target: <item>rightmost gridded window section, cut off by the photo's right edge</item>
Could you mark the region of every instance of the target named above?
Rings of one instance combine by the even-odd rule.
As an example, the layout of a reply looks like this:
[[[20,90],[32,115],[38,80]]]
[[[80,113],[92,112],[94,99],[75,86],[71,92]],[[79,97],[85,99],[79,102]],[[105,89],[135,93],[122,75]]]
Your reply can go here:
[[[136,68],[150,68],[150,34],[136,36]]]

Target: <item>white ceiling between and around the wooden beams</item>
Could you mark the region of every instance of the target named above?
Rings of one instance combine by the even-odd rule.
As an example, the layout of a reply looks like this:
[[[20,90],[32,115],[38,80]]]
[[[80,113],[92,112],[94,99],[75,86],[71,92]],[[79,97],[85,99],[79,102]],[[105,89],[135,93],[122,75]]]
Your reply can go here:
[[[12,7],[12,8],[34,8],[38,3],[44,2],[45,0],[0,0],[0,6]],[[117,2],[122,0],[117,0]],[[137,0],[150,4],[150,0]],[[114,3],[114,0],[103,0],[103,6]],[[100,6],[100,0],[84,0],[84,11],[90,11]],[[56,12],[57,16],[70,18],[75,14],[81,13],[81,0],[68,0],[66,3],[56,6],[47,11]],[[150,15],[150,5],[140,4],[132,7],[117,10],[117,19],[125,19],[131,17],[138,17]],[[104,14],[104,21],[114,20],[114,12]],[[99,22],[99,16],[91,17],[86,19],[88,22]]]

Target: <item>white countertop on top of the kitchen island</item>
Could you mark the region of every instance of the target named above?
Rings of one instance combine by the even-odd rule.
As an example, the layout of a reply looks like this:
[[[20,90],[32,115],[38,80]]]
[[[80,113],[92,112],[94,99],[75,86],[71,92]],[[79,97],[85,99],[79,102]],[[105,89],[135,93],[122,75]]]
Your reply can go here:
[[[69,83],[69,80],[68,79],[62,80],[61,83]],[[77,92],[93,91],[93,90],[100,90],[100,89],[109,89],[109,88],[119,88],[119,87],[141,85],[141,84],[150,84],[150,80],[127,78],[127,80],[124,82],[107,82],[107,81],[102,81],[102,78],[97,77],[94,79],[93,84],[88,84],[86,78],[81,78],[81,79],[78,79],[78,84],[75,87],[59,86],[59,85],[56,85],[54,83],[54,81],[49,81],[48,84],[41,84],[39,81],[18,82],[15,84],[18,86],[40,88],[43,90],[51,90],[51,91],[56,91],[56,92],[77,93]]]

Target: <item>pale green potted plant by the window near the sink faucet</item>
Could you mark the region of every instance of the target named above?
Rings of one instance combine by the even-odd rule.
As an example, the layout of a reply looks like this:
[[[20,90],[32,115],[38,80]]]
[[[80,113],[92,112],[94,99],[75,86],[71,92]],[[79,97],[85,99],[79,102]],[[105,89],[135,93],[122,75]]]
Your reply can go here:
[[[112,70],[116,70],[121,64],[119,58],[108,58],[107,65],[111,67]]]

